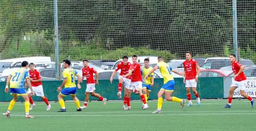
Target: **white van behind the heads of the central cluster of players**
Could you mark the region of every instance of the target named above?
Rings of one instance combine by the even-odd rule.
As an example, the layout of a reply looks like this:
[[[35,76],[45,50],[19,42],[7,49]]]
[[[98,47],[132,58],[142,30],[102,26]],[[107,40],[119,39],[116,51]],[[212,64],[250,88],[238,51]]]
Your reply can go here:
[[[149,63],[158,63],[157,56],[138,56],[137,62],[143,63],[145,58],[149,59]],[[121,61],[123,61],[123,59],[117,60],[111,69],[115,69]],[[128,62],[132,63],[131,57],[128,57]]]

